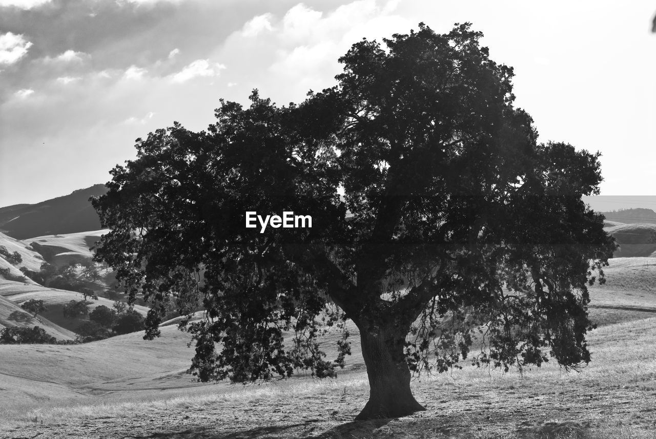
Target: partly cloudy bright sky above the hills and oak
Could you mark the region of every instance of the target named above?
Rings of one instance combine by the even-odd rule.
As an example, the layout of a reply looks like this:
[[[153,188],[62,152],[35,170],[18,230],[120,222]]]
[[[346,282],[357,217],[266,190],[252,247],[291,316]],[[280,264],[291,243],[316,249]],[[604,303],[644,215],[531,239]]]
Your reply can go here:
[[[219,99],[335,85],[363,37],[472,22],[540,142],[602,153],[602,195],[656,195],[653,0],[0,0],[0,206],[110,180],[134,140]],[[652,205],[653,199],[651,199]],[[615,204],[618,208],[624,207]]]

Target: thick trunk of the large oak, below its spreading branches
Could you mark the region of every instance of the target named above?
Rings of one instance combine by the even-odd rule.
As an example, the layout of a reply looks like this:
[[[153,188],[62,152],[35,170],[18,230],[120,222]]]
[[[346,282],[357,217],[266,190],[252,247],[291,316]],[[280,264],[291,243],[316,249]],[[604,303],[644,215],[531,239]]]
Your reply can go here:
[[[356,421],[401,417],[426,410],[410,390],[411,375],[403,354],[407,331],[367,329],[360,328],[360,340],[369,376],[369,401]]]

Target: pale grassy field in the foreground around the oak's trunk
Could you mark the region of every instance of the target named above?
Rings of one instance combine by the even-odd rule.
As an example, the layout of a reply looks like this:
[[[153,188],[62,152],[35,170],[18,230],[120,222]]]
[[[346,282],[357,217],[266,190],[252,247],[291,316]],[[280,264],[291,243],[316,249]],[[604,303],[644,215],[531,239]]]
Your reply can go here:
[[[606,272],[581,372],[465,366],[413,382],[427,411],[356,423],[368,396],[357,345],[337,379],[199,385],[184,373],[188,334],[167,326],[155,341],[0,346],[0,437],[656,438],[656,259]]]

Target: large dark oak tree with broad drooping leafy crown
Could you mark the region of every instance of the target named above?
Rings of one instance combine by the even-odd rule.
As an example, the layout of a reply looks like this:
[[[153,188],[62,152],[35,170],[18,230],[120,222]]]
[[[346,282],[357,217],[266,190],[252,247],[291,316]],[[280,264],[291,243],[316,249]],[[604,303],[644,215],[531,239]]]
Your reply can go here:
[[[152,306],[146,337],[201,307],[188,330],[202,381],[326,377],[348,332],[334,359],[320,335],[350,319],[371,389],[359,419],[424,410],[411,373],[463,359],[589,362],[586,286],[615,248],[581,200],[599,191],[599,154],[538,144],[512,68],[480,37],[420,24],[363,39],[337,86],[302,104],[253,92],[246,108],[221,101],[207,131],[137,140],[93,204],[111,229],[97,258]],[[249,211],[312,228],[260,233]]]

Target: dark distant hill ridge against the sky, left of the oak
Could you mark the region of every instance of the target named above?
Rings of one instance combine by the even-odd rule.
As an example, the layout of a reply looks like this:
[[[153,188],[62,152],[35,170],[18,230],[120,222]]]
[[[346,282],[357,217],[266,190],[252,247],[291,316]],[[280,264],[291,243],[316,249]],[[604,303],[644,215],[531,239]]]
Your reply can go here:
[[[37,204],[0,208],[0,232],[15,239],[61,235],[100,229],[100,219],[89,197],[107,193],[104,184],[77,189],[69,195]]]

